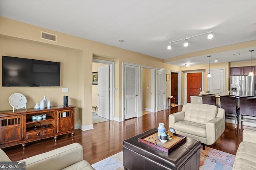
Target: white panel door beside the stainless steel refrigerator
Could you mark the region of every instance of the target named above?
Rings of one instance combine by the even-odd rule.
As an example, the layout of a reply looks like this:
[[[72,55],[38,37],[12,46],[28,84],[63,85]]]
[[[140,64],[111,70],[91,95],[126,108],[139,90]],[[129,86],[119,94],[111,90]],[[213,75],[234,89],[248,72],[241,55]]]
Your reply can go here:
[[[210,93],[215,95],[220,95],[225,93],[225,69],[214,69],[210,70],[210,74],[212,77],[209,78]],[[209,85],[208,85],[209,86]]]

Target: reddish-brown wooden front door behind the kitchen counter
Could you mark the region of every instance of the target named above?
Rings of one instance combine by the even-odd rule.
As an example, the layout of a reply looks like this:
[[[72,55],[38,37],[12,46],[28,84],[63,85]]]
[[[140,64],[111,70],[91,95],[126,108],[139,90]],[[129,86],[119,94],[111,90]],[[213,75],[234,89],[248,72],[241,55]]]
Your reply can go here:
[[[190,95],[199,95],[202,90],[202,73],[187,74],[187,103],[190,103]]]

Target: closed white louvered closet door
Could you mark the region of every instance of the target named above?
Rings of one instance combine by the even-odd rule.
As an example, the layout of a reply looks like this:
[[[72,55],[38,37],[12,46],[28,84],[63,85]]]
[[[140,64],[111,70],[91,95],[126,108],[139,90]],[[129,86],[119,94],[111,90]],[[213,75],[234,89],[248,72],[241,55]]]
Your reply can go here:
[[[124,119],[138,116],[138,66],[124,65]]]

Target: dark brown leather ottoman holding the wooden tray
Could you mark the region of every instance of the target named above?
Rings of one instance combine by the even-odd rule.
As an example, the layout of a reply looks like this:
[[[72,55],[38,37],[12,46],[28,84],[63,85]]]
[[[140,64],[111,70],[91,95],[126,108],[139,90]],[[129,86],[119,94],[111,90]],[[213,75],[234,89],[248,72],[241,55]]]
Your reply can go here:
[[[155,149],[138,138],[157,129],[124,140],[124,169],[129,170],[198,170],[200,167],[200,141],[187,137],[186,143],[179,145],[170,154]]]

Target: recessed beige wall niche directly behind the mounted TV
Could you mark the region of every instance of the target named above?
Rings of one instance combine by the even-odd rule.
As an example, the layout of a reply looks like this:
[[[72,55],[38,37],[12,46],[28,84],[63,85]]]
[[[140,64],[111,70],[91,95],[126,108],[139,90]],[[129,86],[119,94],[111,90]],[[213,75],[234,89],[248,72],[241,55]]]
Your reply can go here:
[[[63,96],[69,97],[69,104],[80,105],[79,98],[79,52],[72,49],[62,49],[30,42],[18,41],[15,39],[0,39],[0,56],[22,57],[28,59],[38,59],[46,61],[60,62],[60,87],[2,87],[0,86],[0,109],[11,110],[12,107],[8,98],[13,93],[21,93],[27,99],[27,108],[34,108],[44,95],[50,100],[51,106],[63,104]],[[2,75],[2,57],[1,57]],[[2,78],[0,79],[2,84]],[[62,92],[62,88],[69,88],[69,92]],[[75,123],[80,124],[79,110],[75,110]]]

